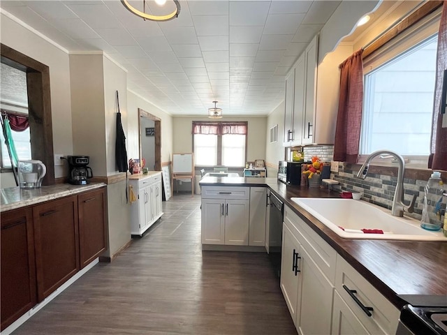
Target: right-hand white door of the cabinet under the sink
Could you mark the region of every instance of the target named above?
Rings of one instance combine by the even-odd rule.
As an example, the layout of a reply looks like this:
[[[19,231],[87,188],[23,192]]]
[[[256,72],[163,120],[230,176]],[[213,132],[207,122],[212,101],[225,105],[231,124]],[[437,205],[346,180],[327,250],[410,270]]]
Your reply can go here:
[[[330,334],[334,287],[303,247],[301,257],[300,311],[296,321],[298,332],[302,335]]]

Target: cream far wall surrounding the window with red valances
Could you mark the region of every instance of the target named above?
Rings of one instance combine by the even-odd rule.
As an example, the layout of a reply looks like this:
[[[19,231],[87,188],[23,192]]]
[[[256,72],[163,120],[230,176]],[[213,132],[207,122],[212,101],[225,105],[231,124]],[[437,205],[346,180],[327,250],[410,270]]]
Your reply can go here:
[[[210,119],[207,117],[173,117],[174,153],[193,152],[193,121],[210,121]],[[265,160],[267,117],[223,117],[219,121],[248,121],[247,161]]]

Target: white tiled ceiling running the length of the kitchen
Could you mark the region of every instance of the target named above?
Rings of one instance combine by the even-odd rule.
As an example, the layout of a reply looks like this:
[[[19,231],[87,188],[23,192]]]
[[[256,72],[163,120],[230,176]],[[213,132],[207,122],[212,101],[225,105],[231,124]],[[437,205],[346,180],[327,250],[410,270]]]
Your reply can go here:
[[[131,0],[142,6],[141,0]],[[179,17],[142,20],[121,1],[0,1],[69,52],[105,52],[128,87],[170,114],[269,114],[285,75],[340,1],[180,0]],[[159,8],[174,8],[172,0]],[[170,7],[171,6],[171,7]]]

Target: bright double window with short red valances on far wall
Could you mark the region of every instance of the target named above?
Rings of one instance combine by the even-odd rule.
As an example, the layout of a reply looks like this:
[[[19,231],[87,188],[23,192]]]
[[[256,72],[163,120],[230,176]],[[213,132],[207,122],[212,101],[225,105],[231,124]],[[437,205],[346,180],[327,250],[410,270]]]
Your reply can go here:
[[[247,122],[193,122],[193,147],[195,165],[243,167]]]

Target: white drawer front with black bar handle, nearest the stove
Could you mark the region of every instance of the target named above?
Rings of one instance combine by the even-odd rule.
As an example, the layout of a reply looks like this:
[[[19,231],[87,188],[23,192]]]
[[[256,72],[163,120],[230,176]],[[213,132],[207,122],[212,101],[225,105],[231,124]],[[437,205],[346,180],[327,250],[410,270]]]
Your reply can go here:
[[[400,311],[340,255],[337,255],[335,289],[369,334],[396,334]],[[356,292],[351,296],[347,290]],[[372,308],[370,316],[360,304]]]

